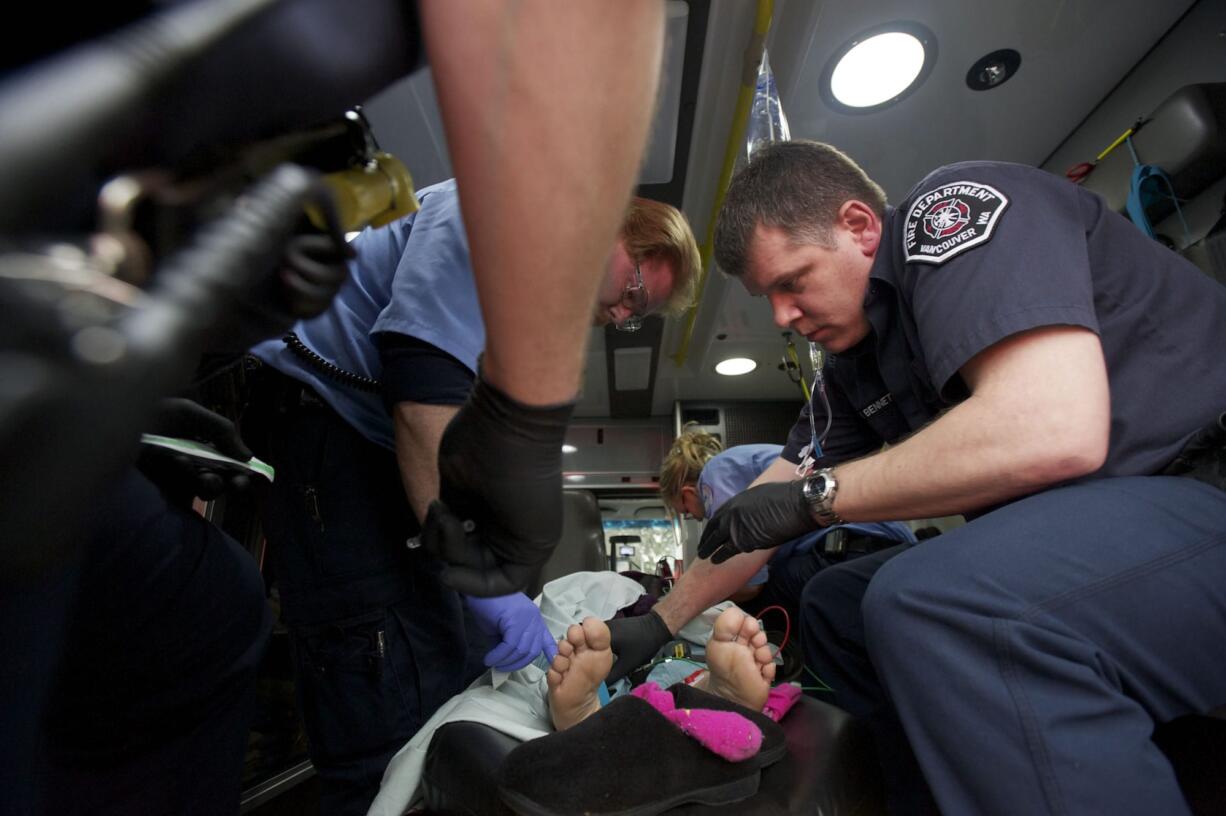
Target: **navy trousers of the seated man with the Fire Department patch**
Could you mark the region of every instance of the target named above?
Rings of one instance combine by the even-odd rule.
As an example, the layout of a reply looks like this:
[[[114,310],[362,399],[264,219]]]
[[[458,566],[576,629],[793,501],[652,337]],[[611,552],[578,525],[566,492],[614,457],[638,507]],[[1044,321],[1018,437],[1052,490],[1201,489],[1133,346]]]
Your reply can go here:
[[[897,812],[1187,814],[1150,738],[1226,703],[1224,587],[1226,493],[1105,479],[824,570],[802,637]]]

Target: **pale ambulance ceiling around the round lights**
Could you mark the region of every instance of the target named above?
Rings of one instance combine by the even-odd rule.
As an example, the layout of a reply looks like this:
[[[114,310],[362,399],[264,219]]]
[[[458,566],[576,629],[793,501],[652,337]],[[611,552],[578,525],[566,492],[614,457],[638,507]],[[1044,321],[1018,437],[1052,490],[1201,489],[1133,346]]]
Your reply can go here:
[[[929,170],[959,161],[1020,162],[1062,174],[1092,159],[1177,88],[1226,81],[1226,0],[769,5],[766,50],[791,136],[845,149],[891,201]],[[682,207],[700,246],[758,7],[752,0],[668,2],[663,89],[639,192]],[[896,21],[921,23],[934,36],[935,59],[922,83],[875,113],[841,113],[824,102],[819,82],[831,55],[857,34]],[[999,49],[1016,50],[1019,69],[989,91],[972,91],[970,67]],[[367,111],[383,146],[405,157],[418,186],[451,175],[428,75],[387,88]],[[633,420],[669,417],[676,401],[799,399],[779,368],[785,341],[765,303],[718,270],[707,277],[678,365],[684,334],[685,320],[661,317],[633,334],[592,330],[577,415]],[[734,377],[716,374],[715,364],[727,357],[748,357],[758,368]]]

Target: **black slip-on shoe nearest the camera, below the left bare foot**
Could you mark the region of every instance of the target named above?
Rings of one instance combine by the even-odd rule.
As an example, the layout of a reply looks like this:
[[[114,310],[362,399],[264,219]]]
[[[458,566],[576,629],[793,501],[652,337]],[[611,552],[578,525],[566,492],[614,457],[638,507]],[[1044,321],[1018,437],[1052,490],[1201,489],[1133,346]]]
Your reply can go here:
[[[618,697],[565,731],[512,750],[503,801],[524,816],[653,816],[687,803],[728,805],[758,793],[759,766],[729,762],[645,700]]]

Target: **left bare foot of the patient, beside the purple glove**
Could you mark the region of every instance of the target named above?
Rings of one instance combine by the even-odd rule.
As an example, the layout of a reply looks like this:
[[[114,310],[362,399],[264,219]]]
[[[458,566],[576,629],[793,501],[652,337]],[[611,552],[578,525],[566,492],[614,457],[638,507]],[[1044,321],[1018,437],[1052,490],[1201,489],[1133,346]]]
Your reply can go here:
[[[559,731],[581,723],[601,708],[597,689],[613,668],[609,627],[600,618],[571,624],[558,641],[558,655],[549,667],[549,714]]]

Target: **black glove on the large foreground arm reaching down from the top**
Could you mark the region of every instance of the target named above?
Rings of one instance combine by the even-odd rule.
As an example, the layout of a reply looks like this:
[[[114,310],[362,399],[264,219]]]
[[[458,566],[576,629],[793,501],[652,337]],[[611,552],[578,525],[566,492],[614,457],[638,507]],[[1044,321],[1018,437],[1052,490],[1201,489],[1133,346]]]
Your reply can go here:
[[[562,535],[562,442],[574,403],[526,406],[481,375],[439,444],[439,501],[422,531],[466,595],[522,591]]]

